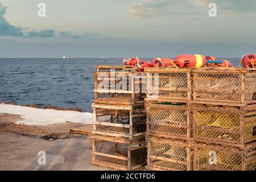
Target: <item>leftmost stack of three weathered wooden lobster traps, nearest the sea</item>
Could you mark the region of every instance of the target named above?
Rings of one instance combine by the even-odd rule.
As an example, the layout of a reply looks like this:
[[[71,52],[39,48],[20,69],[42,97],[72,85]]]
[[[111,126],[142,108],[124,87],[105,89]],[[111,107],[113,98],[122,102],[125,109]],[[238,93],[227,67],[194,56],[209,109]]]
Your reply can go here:
[[[120,170],[146,164],[143,73],[132,67],[97,66],[94,73],[92,164]]]

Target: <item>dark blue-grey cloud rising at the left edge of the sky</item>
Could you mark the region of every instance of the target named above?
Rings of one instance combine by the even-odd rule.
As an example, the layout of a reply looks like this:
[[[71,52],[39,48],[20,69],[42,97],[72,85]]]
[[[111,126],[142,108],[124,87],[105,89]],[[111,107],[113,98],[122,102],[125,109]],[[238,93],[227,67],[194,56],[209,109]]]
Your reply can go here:
[[[24,36],[22,28],[11,25],[5,19],[7,7],[0,3],[0,36]]]

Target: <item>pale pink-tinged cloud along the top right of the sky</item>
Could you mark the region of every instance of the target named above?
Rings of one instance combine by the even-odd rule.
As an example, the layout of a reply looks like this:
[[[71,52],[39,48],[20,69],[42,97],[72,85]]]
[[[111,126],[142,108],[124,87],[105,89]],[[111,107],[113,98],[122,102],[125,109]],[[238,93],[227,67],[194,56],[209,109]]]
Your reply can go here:
[[[197,15],[216,3],[222,12],[245,13],[256,11],[256,0],[144,0],[128,6],[128,15],[135,19],[159,15]]]

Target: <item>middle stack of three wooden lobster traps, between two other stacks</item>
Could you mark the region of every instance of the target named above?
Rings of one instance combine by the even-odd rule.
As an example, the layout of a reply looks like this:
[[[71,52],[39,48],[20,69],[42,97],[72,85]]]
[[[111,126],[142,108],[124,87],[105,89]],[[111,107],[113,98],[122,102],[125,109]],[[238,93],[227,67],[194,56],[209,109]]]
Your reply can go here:
[[[192,170],[191,69],[145,68],[147,169]]]

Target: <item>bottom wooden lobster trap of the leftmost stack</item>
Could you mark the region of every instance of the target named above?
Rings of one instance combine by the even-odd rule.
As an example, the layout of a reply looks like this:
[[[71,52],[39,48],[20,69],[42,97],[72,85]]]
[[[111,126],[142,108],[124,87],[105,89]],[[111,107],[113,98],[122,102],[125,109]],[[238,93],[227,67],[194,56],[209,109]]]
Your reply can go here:
[[[146,164],[147,148],[143,137],[134,139],[92,135],[92,164],[117,170],[135,170]]]

